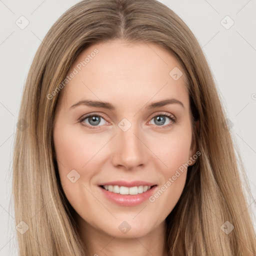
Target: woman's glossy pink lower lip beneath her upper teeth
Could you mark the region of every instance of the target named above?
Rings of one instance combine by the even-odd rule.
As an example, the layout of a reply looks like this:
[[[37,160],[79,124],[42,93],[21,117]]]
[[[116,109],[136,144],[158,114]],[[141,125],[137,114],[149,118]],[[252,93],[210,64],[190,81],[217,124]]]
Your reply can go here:
[[[110,192],[101,186],[99,186],[99,188],[103,192],[103,194],[106,196],[106,198],[109,199],[110,201],[122,206],[133,206],[148,199],[148,197],[152,195],[153,191],[155,190],[156,185],[143,193],[134,194],[134,195]]]

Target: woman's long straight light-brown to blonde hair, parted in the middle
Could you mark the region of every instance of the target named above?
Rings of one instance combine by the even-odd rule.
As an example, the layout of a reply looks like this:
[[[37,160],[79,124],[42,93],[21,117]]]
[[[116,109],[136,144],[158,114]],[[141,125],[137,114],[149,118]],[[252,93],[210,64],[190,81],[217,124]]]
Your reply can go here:
[[[188,167],[184,190],[165,220],[168,255],[255,255],[248,180],[211,71],[187,25],[156,0],[80,1],[40,44],[23,90],[23,125],[16,130],[13,153],[15,221],[28,227],[16,232],[19,255],[88,255],[60,185],[54,152],[52,127],[61,91],[51,99],[47,95],[83,49],[119,38],[155,43],[176,57],[188,80],[193,123],[199,120],[194,139],[201,155]]]

